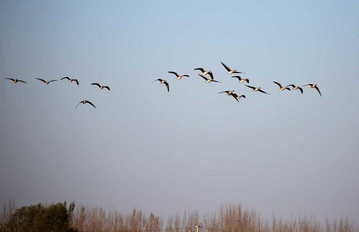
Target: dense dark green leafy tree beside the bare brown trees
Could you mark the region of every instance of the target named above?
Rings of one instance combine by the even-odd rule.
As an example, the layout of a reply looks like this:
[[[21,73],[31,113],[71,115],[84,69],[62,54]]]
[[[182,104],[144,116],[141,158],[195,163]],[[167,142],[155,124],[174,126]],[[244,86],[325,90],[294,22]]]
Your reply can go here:
[[[6,229],[17,232],[75,232],[71,228],[72,213],[75,205],[66,202],[43,206],[41,204],[16,209],[10,217]]]

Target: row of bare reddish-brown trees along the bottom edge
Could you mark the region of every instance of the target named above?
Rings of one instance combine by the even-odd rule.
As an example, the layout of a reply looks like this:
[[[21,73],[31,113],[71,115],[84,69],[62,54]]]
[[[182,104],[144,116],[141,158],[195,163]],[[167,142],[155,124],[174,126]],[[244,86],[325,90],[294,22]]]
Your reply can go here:
[[[3,228],[14,211],[13,199],[9,200],[7,205],[3,205],[0,228]],[[321,224],[315,217],[283,219],[273,216],[268,222],[261,219],[255,211],[233,204],[221,206],[217,212],[205,215],[186,210],[181,215],[170,215],[166,223],[153,213],[147,215],[136,209],[131,213],[122,214],[116,210],[106,211],[101,207],[79,206],[72,215],[72,225],[80,232],[138,232],[174,228],[185,229],[171,232],[188,232],[195,231],[194,226],[197,223],[202,223],[200,232],[359,232],[355,223],[348,218],[327,219]]]

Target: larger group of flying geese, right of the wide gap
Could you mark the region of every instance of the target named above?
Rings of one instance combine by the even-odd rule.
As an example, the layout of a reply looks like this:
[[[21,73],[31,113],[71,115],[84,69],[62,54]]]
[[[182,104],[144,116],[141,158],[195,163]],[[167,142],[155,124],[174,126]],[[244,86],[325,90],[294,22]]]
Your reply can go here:
[[[242,73],[242,72],[238,72],[238,71],[235,70],[235,69],[230,69],[230,68],[229,68],[227,65],[225,65],[223,62],[221,62],[221,64],[222,64],[223,67],[226,69],[228,75],[231,75],[231,74],[245,74],[245,73]],[[194,69],[194,70],[198,70],[198,71],[202,72],[202,74],[198,74],[198,75],[199,75],[200,77],[202,77],[202,78],[205,80],[206,83],[209,83],[209,82],[222,83],[221,81],[218,81],[218,80],[215,80],[215,79],[214,79],[213,73],[212,73],[211,71],[206,71],[206,70],[203,69],[203,68],[196,68],[196,69]],[[172,71],[169,72],[169,73],[176,75],[177,79],[181,79],[182,77],[189,77],[188,75],[179,75],[178,73],[172,72]],[[205,75],[208,75],[210,78],[205,77]],[[242,78],[241,76],[233,76],[232,78],[237,78],[239,83],[243,83],[243,82],[249,83],[249,79],[248,79],[248,78]],[[165,84],[166,87],[167,87],[167,90],[170,92],[170,84],[167,82],[167,80],[159,78],[159,79],[155,79],[154,81],[152,81],[152,83],[155,82],[155,81],[157,81],[157,80],[159,81],[160,84]],[[279,91],[291,90],[291,89],[289,88],[289,86],[292,86],[292,89],[293,89],[293,90],[299,89],[299,90],[303,93],[303,88],[301,88],[301,87],[309,85],[311,88],[317,89],[317,91],[319,92],[319,95],[322,96],[322,94],[321,94],[321,92],[320,92],[320,90],[319,90],[317,84],[305,84],[305,85],[302,85],[302,86],[297,86],[297,85],[295,85],[295,84],[289,84],[289,85],[283,87],[281,83],[279,83],[279,82],[277,82],[277,81],[273,81],[273,82],[279,86]],[[262,92],[262,93],[265,93],[265,94],[269,94],[269,95],[270,95],[270,93],[267,93],[267,92],[263,91],[263,90],[261,89],[261,87],[254,87],[254,86],[250,86],[250,85],[247,85],[247,84],[244,84],[244,85],[247,86],[247,87],[249,87],[249,88],[251,88],[253,92],[257,92],[257,91],[258,91],[258,92]],[[236,99],[237,101],[238,101],[238,99],[240,99],[240,98],[242,98],[242,97],[245,98],[245,95],[238,95],[238,94],[234,93],[234,90],[226,90],[226,91],[222,91],[222,92],[219,92],[219,93],[226,93],[228,96],[233,96],[234,99]],[[239,102],[239,101],[238,101],[238,102]]]

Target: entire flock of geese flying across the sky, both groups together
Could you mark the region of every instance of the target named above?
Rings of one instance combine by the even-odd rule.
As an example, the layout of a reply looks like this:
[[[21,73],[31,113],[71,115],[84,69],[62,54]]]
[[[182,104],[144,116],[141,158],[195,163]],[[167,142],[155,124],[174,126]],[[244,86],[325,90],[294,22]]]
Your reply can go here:
[[[229,68],[227,65],[225,65],[223,62],[221,62],[221,64],[222,64],[223,67],[226,69],[228,75],[231,75],[231,74],[245,74],[245,73],[242,73],[242,72],[238,72],[238,71],[235,70],[235,69],[230,69],[230,68]],[[200,77],[202,77],[202,78],[205,80],[206,83],[209,83],[209,82],[222,83],[221,81],[218,81],[218,80],[215,80],[215,79],[214,79],[213,73],[212,73],[210,70],[209,70],[209,71],[206,71],[206,70],[203,69],[203,68],[196,68],[196,69],[194,69],[194,70],[198,70],[198,71],[200,71],[200,72],[202,73],[202,74],[198,74],[198,75],[199,75]],[[172,71],[170,71],[169,73],[176,75],[177,79],[179,79],[179,80],[180,80],[181,78],[183,78],[183,77],[189,77],[188,75],[179,75],[178,73],[172,72]],[[206,77],[206,75],[208,75],[209,78],[208,78],[208,76]],[[248,78],[242,78],[241,76],[233,76],[232,78],[237,78],[239,83],[243,83],[243,82],[249,83],[249,79],[248,79]],[[13,83],[18,83],[18,82],[27,83],[26,81],[19,80],[19,79],[17,79],[17,78],[7,78],[7,77],[4,77],[4,79],[9,79],[9,80],[11,80]],[[57,81],[57,79],[56,79],[56,80],[44,80],[44,79],[37,78],[37,77],[36,77],[35,79],[38,79],[38,80],[42,81],[45,85],[48,85],[48,84],[50,84],[50,83],[53,82],[53,81]],[[73,82],[73,81],[74,81],[74,82],[76,82],[77,85],[79,85],[79,81],[78,81],[77,79],[72,79],[72,78],[70,78],[70,77],[62,77],[60,80],[63,80],[63,79],[67,79],[69,82]],[[165,84],[166,87],[167,87],[167,90],[170,92],[170,84],[167,82],[167,80],[158,78],[158,79],[152,81],[152,83],[155,82],[155,81],[159,81],[160,84]],[[299,90],[303,93],[303,88],[301,88],[301,87],[303,87],[303,86],[310,86],[311,88],[317,89],[317,91],[319,92],[319,94],[322,96],[322,94],[321,94],[321,92],[320,92],[320,90],[319,90],[317,84],[305,84],[305,85],[302,85],[302,86],[297,86],[297,85],[295,85],[295,84],[289,84],[289,85],[283,87],[281,83],[279,83],[279,82],[277,82],[277,81],[273,81],[273,82],[279,86],[279,91],[291,90],[291,89],[289,88],[289,86],[291,86],[293,90],[299,89]],[[110,87],[109,87],[109,86],[104,86],[104,85],[101,85],[101,84],[99,84],[99,83],[91,83],[91,85],[97,85],[97,86],[99,87],[99,89],[101,89],[101,90],[104,89],[104,88],[106,88],[107,90],[110,90]],[[267,93],[267,92],[263,91],[263,90],[261,89],[261,87],[254,87],[254,86],[250,86],[250,85],[247,85],[247,84],[244,84],[244,85],[247,86],[247,87],[249,87],[249,88],[251,88],[253,92],[262,92],[262,93],[265,93],[265,94],[270,94],[270,93]],[[245,98],[245,95],[238,95],[238,94],[234,93],[234,90],[225,90],[225,91],[222,91],[222,92],[219,92],[219,93],[225,93],[225,94],[227,94],[228,96],[232,96],[232,97],[234,97],[234,99],[236,99],[238,102],[239,102],[239,99],[240,99],[240,98],[242,98],[242,97]],[[75,109],[76,109],[77,106],[78,106],[79,104],[81,104],[81,103],[82,103],[82,104],[88,103],[88,104],[90,104],[90,105],[92,105],[93,107],[96,108],[96,106],[95,106],[92,102],[90,102],[90,101],[88,101],[88,100],[82,100],[82,101],[80,101],[80,102],[76,105]]]

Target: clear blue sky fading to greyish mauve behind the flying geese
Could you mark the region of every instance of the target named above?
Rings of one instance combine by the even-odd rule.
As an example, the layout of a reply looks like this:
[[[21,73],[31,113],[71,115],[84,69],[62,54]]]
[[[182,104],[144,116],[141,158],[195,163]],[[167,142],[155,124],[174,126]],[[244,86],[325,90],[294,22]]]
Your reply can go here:
[[[0,80],[0,203],[167,215],[231,202],[358,222],[358,41],[355,0],[0,0],[0,75],[28,82]],[[80,85],[34,79],[65,76]],[[83,99],[97,108],[74,110]]]

